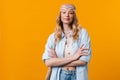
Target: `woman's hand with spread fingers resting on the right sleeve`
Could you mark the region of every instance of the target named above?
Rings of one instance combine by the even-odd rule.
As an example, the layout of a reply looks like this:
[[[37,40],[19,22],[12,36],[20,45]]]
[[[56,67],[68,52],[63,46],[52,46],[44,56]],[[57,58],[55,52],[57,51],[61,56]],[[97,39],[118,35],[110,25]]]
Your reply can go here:
[[[77,60],[80,56],[87,56],[88,55],[88,53],[84,52],[84,50],[89,50],[89,49],[83,48],[83,45],[78,49],[77,53],[72,57],[73,60]]]

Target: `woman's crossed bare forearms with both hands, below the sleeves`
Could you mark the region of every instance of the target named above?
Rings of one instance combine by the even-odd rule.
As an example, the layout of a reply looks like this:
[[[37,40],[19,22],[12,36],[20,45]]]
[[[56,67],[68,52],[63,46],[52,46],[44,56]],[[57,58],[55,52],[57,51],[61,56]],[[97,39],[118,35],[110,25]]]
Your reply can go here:
[[[84,50],[88,50],[87,48],[82,48],[83,45],[78,49],[75,55],[71,56],[70,58],[58,58],[54,49],[51,49],[50,56],[52,58],[45,60],[45,64],[47,66],[77,66],[77,65],[84,65],[85,62],[78,60],[80,56],[87,56],[86,52],[83,52]],[[69,64],[69,65],[68,65]]]

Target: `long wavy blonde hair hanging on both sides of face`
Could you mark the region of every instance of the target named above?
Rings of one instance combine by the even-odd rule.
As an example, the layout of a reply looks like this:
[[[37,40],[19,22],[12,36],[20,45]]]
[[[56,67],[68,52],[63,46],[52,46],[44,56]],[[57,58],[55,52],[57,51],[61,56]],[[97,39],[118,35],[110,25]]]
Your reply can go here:
[[[75,6],[73,6],[75,7]],[[55,43],[59,42],[62,39],[62,32],[63,32],[63,25],[62,25],[62,21],[61,21],[61,12],[59,12],[57,19],[56,19],[56,30],[55,30]],[[73,40],[78,40],[79,39],[79,31],[82,27],[79,25],[78,23],[78,19],[76,16],[76,13],[74,12],[74,16],[73,16],[73,21],[71,23],[71,29],[72,29],[72,37]]]

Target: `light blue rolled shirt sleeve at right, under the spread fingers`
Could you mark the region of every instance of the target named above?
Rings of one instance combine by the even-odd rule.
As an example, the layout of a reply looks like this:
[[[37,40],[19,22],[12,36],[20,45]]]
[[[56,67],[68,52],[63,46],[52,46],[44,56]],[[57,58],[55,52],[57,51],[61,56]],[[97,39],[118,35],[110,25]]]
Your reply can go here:
[[[89,50],[84,50],[84,52],[88,52],[87,56],[81,56],[79,59],[83,60],[85,62],[89,62],[91,58],[91,43],[90,43],[90,37],[86,29],[83,28],[81,34],[80,34],[80,46],[84,44],[83,48],[88,48]]]

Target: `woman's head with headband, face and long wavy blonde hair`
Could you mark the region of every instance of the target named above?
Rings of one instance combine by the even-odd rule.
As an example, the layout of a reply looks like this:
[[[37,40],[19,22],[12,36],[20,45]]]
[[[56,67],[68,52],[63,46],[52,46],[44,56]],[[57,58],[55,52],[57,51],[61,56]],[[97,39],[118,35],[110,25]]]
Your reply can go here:
[[[68,24],[73,32],[73,39],[79,37],[80,26],[76,16],[76,8],[73,4],[64,4],[60,7],[59,15],[56,19],[55,41],[58,42],[62,38],[63,24]]]

